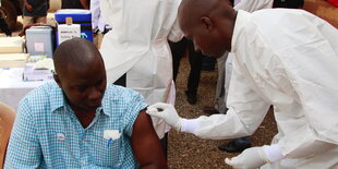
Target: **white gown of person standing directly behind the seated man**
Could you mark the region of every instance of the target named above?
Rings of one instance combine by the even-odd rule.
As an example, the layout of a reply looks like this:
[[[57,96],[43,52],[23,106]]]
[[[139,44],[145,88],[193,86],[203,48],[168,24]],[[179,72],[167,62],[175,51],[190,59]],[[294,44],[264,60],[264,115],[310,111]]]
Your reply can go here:
[[[174,102],[172,57],[168,39],[179,41],[177,14],[181,0],[100,0],[104,19],[113,28],[100,48],[108,83],[126,73],[126,87],[141,93],[148,105]],[[165,122],[153,119],[162,137]]]

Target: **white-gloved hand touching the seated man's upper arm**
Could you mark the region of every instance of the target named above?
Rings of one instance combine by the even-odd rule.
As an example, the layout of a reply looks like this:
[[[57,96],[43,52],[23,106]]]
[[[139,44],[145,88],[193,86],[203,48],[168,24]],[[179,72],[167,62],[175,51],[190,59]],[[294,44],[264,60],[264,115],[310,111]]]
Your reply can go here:
[[[164,119],[167,124],[177,131],[180,131],[182,126],[182,118],[179,117],[174,107],[170,104],[154,104],[147,108],[146,112],[153,117]]]

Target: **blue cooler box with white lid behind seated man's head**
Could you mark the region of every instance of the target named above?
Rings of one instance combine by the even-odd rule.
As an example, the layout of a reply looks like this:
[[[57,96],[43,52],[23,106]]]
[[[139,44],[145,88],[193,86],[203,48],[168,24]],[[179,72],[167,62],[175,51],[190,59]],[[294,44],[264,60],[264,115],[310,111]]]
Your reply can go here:
[[[85,38],[93,43],[92,12],[89,10],[67,9],[58,10],[55,13],[55,19],[58,24],[65,24],[65,17],[72,17],[73,24],[81,25],[81,38]],[[59,44],[58,38],[57,44]]]

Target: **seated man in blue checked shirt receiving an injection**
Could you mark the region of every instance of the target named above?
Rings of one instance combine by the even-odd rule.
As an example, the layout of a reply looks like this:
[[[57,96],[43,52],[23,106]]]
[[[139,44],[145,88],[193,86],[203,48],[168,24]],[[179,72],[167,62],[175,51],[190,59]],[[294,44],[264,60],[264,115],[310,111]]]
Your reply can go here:
[[[143,97],[106,84],[93,44],[67,40],[53,61],[55,82],[20,104],[5,168],[167,168]]]

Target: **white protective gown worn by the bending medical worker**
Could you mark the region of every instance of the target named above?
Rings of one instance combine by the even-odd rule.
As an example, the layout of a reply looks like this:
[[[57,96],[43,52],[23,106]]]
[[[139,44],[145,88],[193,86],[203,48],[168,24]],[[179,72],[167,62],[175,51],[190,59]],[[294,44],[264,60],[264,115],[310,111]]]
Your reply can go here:
[[[239,11],[231,43],[229,110],[196,119],[194,134],[251,135],[274,105],[286,158],[262,168],[338,168],[338,31],[302,10]]]

